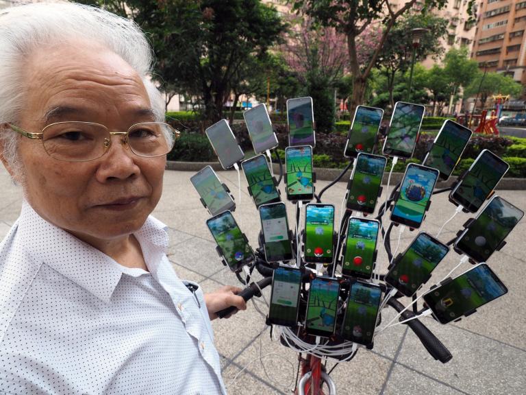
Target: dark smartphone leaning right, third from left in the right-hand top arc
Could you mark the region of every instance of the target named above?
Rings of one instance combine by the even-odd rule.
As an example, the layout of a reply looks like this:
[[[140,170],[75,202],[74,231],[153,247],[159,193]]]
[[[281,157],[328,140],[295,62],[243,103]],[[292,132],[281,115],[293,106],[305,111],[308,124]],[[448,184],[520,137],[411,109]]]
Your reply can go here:
[[[471,134],[473,132],[470,129],[447,119],[442,124],[422,164],[438,169],[440,178],[447,180],[468,145]]]

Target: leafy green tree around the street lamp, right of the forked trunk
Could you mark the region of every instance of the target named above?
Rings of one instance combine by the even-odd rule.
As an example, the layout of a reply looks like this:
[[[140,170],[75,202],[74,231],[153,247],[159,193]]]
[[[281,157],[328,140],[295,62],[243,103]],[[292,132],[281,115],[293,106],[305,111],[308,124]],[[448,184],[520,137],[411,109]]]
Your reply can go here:
[[[423,60],[427,56],[436,58],[444,51],[440,38],[447,33],[447,23],[446,19],[431,14],[408,14],[399,19],[391,29],[375,65],[386,73],[391,108],[395,106],[392,97],[395,77],[397,73],[405,73],[412,62],[412,29],[416,27],[428,29],[415,49],[415,60]],[[405,100],[408,100],[408,97],[405,97]]]

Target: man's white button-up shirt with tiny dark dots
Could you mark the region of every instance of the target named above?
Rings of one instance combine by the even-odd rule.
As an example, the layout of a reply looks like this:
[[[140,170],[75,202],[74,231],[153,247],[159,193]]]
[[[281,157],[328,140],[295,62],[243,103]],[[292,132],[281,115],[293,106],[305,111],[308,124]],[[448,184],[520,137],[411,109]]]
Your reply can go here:
[[[0,394],[225,394],[201,289],[136,232],[149,272],[116,263],[25,203],[0,244]]]

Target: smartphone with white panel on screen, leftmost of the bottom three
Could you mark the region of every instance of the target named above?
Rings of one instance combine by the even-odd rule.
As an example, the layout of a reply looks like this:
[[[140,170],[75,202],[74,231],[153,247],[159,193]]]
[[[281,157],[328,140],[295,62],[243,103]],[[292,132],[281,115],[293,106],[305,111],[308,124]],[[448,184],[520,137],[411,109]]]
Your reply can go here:
[[[272,276],[271,305],[267,322],[281,326],[298,324],[301,270],[297,267],[279,265]]]

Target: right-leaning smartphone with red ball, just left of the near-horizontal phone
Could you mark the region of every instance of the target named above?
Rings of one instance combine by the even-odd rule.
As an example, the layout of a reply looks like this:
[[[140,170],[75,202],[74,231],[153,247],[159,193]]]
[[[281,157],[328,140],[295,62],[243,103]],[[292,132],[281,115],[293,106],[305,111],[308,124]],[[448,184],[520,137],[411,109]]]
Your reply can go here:
[[[390,268],[385,277],[386,283],[405,296],[413,296],[421,285],[427,283],[431,272],[448,252],[449,247],[444,243],[421,232]]]

